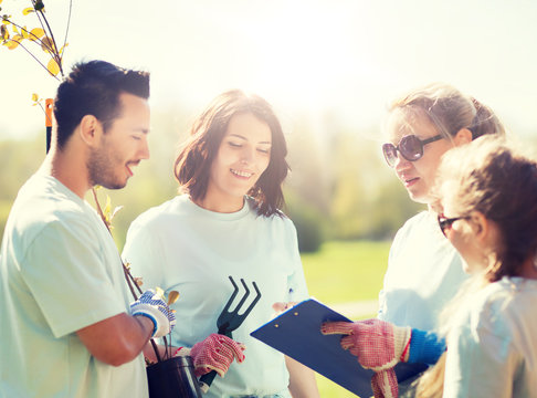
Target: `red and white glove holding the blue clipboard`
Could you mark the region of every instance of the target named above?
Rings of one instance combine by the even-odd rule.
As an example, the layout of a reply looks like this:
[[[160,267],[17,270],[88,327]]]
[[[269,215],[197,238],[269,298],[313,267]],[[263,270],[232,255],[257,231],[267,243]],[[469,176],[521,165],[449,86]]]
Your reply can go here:
[[[409,358],[410,327],[394,326],[377,318],[358,322],[328,322],[322,325],[325,335],[344,334],[341,347],[358,357],[366,369],[375,370],[371,386],[376,398],[399,395],[393,366]]]

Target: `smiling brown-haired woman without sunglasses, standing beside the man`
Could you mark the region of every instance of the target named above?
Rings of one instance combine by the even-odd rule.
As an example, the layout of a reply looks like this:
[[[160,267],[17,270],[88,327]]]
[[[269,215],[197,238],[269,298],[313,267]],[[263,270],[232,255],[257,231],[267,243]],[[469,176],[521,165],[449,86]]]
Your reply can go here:
[[[296,230],[280,210],[286,155],[271,105],[256,95],[225,92],[193,123],[176,159],[183,195],[149,209],[128,230],[123,255],[134,272],[151,286],[181,293],[172,305],[180,314],[171,336],[177,347],[217,332],[232,293],[229,276],[255,281],[261,291],[233,331],[233,338],[248,346],[244,363],[228,370],[218,359],[194,360],[200,374],[228,370],[207,397],[318,397],[312,370],[250,336],[273,317],[273,305],[308,296]]]

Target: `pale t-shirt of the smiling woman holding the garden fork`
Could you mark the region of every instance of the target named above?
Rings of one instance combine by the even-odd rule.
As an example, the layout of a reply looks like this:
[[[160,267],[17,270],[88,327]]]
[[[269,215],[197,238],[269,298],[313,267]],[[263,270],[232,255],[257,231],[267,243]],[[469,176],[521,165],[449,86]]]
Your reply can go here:
[[[204,396],[265,396],[287,389],[283,355],[250,333],[273,317],[273,303],[307,297],[296,230],[288,218],[257,216],[249,200],[238,212],[218,213],[178,196],[133,222],[123,256],[145,286],[180,293],[172,305],[175,346],[191,347],[217,332],[217,317],[233,291],[229,275],[240,286],[235,304],[244,293],[240,279],[251,291],[245,305],[255,294],[255,281],[262,297],[232,332],[233,339],[246,345],[246,358],[233,363],[224,378],[217,376]]]

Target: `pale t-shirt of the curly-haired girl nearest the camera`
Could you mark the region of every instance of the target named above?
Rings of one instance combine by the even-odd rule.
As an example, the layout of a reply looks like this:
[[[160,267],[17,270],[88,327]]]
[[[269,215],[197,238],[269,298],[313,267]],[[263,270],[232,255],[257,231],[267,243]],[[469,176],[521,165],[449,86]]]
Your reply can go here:
[[[444,397],[537,397],[537,281],[504,277],[465,303],[448,335]]]

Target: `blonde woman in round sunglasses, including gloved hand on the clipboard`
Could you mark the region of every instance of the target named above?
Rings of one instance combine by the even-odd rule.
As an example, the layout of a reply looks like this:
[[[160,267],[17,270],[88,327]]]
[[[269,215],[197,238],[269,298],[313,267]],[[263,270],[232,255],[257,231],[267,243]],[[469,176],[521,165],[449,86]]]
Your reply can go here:
[[[362,366],[377,371],[371,380],[376,397],[397,396],[399,387],[404,390],[410,385],[411,380],[406,380],[398,386],[393,373],[398,362],[438,360],[443,342],[427,332],[415,332],[411,339],[410,328],[434,331],[441,310],[467,279],[461,256],[442,234],[433,209],[432,187],[442,156],[483,135],[505,134],[488,107],[441,83],[396,100],[389,107],[386,130],[389,136],[389,143],[382,146],[386,161],[410,198],[428,209],[408,220],[396,234],[379,294],[378,320],[323,327],[325,334],[355,335],[344,337],[341,345],[357,355]],[[397,327],[407,332],[394,333]],[[364,347],[358,335],[365,338],[390,335],[387,338],[391,347],[382,346],[382,355],[378,355],[369,352],[367,345]]]

